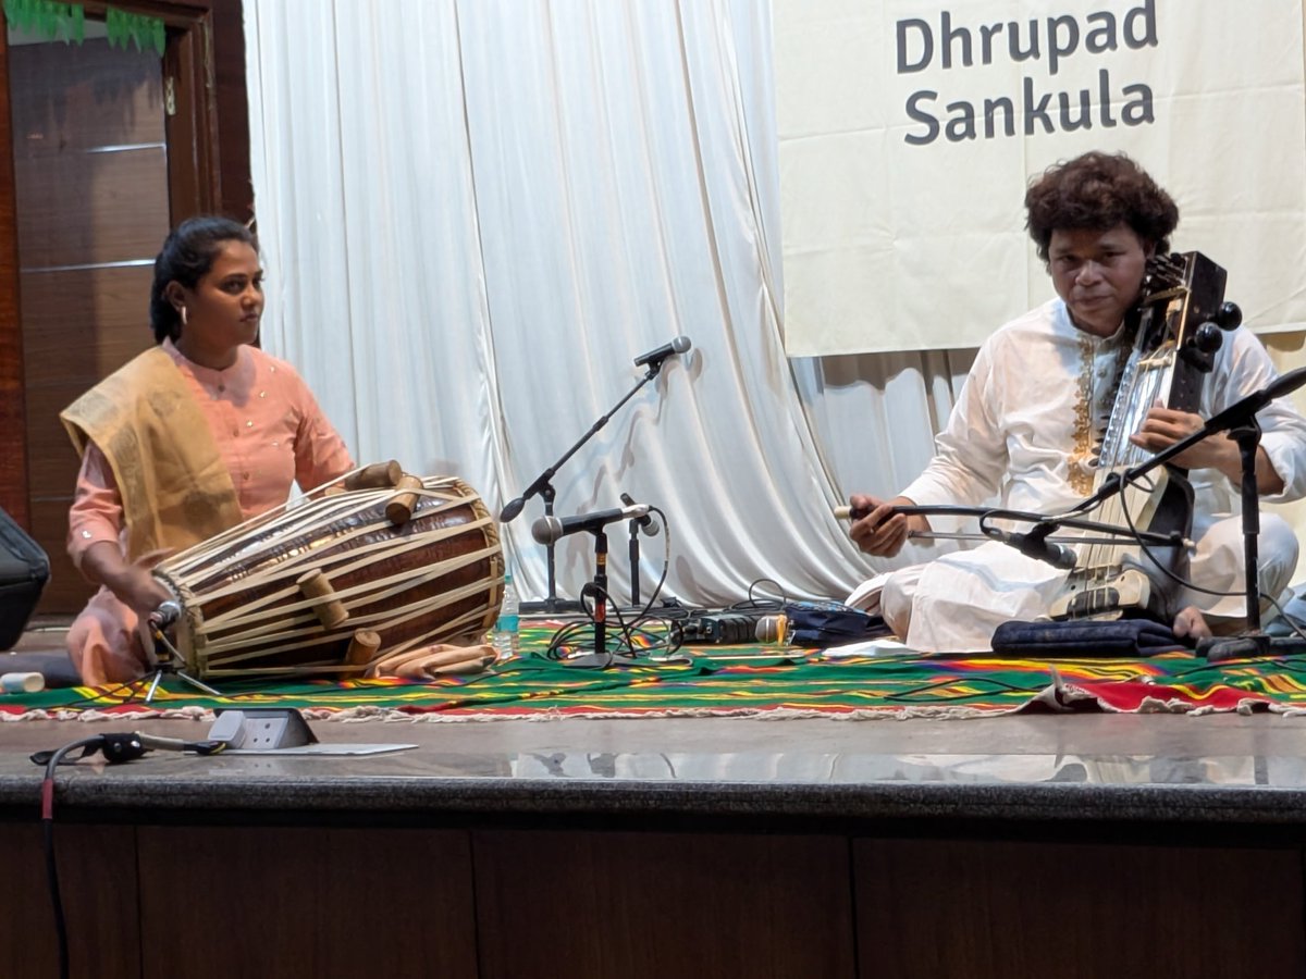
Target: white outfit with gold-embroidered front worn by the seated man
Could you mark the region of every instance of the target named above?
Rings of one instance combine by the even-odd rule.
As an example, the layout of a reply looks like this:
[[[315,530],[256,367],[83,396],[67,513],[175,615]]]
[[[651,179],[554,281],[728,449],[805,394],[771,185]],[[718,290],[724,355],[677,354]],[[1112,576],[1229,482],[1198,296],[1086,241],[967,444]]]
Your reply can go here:
[[[1119,335],[1104,339],[1077,330],[1060,299],[1008,322],[980,349],[935,457],[901,495],[919,505],[1066,512],[1093,491],[1092,453],[1127,355]],[[1211,418],[1276,376],[1251,332],[1225,334],[1203,384],[1199,414]],[[1301,497],[1306,419],[1279,399],[1258,420],[1260,444],[1284,480],[1284,491],[1272,499]],[[1190,479],[1198,542],[1190,576],[1207,587],[1241,591],[1238,489],[1216,470],[1195,470]],[[1282,521],[1263,516],[1259,546],[1262,586],[1281,590],[1296,568],[1296,536]],[[904,638],[913,649],[985,650],[1003,621],[1046,615],[1067,574],[1006,544],[985,543],[887,576],[880,600],[900,633],[909,616]],[[1235,616],[1245,607],[1237,594],[1220,599],[1188,593],[1182,599],[1215,615]]]

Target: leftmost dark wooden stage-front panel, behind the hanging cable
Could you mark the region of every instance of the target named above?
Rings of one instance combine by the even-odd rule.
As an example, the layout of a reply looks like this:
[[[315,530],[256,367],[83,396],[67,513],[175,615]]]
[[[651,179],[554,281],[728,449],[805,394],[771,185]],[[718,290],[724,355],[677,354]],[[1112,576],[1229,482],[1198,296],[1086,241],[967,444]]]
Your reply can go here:
[[[56,739],[57,744],[57,739]],[[35,813],[39,803],[31,800]],[[0,975],[59,975],[59,945],[39,824],[0,822],[4,914]],[[136,837],[131,826],[55,822],[59,888],[73,979],[138,979]]]

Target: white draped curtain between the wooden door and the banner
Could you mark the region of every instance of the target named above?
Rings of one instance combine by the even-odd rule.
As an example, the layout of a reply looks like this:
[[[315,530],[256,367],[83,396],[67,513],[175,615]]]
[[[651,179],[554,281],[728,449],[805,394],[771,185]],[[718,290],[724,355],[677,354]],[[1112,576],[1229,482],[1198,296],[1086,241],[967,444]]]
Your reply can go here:
[[[558,467],[558,516],[623,491],[661,508],[686,603],[760,578],[841,598],[872,573],[831,508],[919,471],[969,354],[786,360],[767,3],[244,10],[264,346],[359,461],[461,476],[498,513],[684,334]],[[504,527],[526,598],[542,513]],[[622,598],[626,526],[609,534]],[[663,540],[644,538],[644,597]],[[564,538],[558,594],[592,574],[589,535]]]

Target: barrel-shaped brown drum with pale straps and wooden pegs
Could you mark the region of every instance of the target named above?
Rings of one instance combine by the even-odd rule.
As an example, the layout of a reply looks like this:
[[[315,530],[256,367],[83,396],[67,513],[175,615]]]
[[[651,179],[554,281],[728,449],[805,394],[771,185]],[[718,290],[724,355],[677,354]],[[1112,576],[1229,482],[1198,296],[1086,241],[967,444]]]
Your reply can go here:
[[[498,525],[461,480],[406,479],[315,491],[162,561],[184,668],[358,675],[383,654],[479,641],[503,598]]]

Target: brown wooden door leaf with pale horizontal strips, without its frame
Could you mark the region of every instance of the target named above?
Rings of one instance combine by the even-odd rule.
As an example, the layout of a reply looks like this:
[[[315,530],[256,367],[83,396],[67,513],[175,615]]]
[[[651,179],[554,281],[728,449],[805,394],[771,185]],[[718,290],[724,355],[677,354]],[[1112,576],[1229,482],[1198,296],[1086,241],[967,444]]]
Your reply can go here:
[[[59,411],[153,343],[149,292],[167,235],[159,56],[82,44],[10,47],[31,535],[50,556],[40,611],[90,586],[68,559],[78,459]]]

